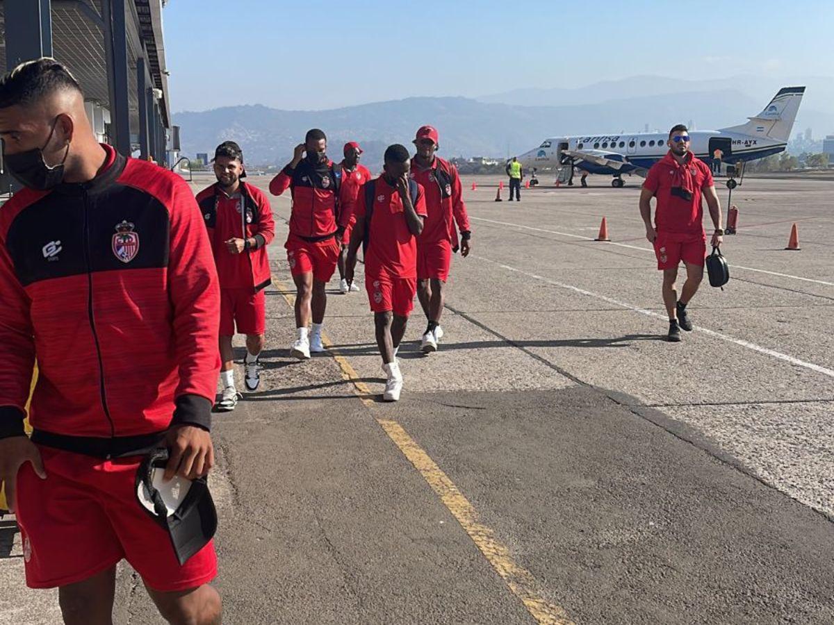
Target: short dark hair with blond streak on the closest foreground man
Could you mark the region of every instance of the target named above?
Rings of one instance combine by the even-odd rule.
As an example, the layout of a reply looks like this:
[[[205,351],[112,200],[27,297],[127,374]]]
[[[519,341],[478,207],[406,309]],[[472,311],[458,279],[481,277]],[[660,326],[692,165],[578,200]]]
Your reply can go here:
[[[82,93],[67,67],[54,58],[23,62],[0,78],[0,108],[28,106],[58,91]]]

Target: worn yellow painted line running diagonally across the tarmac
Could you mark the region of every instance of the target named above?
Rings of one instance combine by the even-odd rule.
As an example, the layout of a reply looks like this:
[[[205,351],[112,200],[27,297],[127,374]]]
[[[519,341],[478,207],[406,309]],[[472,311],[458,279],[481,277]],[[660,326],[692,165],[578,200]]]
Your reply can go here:
[[[280,281],[274,280],[274,283],[286,302],[289,303],[290,308],[294,307],[294,295]],[[326,348],[333,346],[333,343],[324,333],[322,333],[322,343]],[[372,399],[374,393],[371,393],[368,386],[359,380],[359,375],[350,365],[348,359],[335,354],[333,358],[339,365],[342,378],[353,383],[362,403],[368,408],[379,408]],[[480,522],[475,507],[464,497],[443,469],[437,466],[437,463],[431,459],[425,449],[421,448],[399,423],[376,416],[374,416],[374,419],[399,451],[408,459],[409,463],[420,472],[420,475],[435,491],[446,509],[457,519],[460,527],[463,527],[464,531],[469,534],[472,542],[475,542],[475,546],[484,554],[495,572],[504,580],[510,591],[524,603],[535,621],[540,625],[574,625],[563,607],[548,602],[536,592],[537,584],[533,574],[518,562],[515,562],[510,549],[503,542],[500,542],[490,527]]]

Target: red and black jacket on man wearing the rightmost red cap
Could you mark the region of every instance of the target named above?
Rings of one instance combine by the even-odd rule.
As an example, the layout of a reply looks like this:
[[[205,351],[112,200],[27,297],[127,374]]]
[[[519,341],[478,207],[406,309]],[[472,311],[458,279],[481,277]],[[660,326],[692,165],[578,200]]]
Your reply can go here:
[[[445,172],[449,173],[448,188],[442,184],[441,178],[444,177],[438,175],[439,168],[444,168]],[[425,206],[429,211],[423,224],[423,232],[420,234],[420,243],[449,241],[452,248],[457,249],[458,233],[455,231],[455,222],[461,232],[470,231],[458,170],[438,157],[435,157],[435,162],[430,168],[420,169],[416,160],[412,158],[411,178],[425,189]]]

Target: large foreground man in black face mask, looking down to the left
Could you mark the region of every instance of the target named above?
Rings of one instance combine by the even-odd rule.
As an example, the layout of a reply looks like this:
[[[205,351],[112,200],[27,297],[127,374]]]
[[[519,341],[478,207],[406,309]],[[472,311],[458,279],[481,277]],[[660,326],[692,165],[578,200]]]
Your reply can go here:
[[[127,558],[169,622],[219,623],[213,544],[180,565],[136,486],[160,444],[168,479],[214,464],[219,288],[193,194],[98,144],[51,58],[0,79],[0,138],[25,187],[0,211],[0,478],[27,584],[58,587],[66,623],[112,622]]]

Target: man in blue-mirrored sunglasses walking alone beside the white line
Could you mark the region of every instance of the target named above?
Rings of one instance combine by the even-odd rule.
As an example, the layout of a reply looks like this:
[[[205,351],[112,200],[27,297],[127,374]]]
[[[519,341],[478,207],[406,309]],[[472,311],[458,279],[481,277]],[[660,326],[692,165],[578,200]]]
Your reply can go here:
[[[681,329],[689,332],[692,322],[686,306],[704,277],[706,233],[701,196],[706,198],[715,226],[712,245],[723,242],[721,206],[706,163],[690,151],[686,126],[678,124],[669,132],[669,152],[649,170],[640,195],[640,214],[646,224],[646,239],[655,247],[657,268],[663,272],[663,302],[669,313],[669,340],[681,340]],[[651,223],[651,198],[656,198],[655,223]],[[678,265],[686,265],[686,283],[681,297],[675,285]]]

